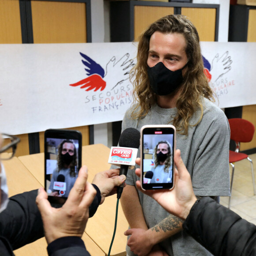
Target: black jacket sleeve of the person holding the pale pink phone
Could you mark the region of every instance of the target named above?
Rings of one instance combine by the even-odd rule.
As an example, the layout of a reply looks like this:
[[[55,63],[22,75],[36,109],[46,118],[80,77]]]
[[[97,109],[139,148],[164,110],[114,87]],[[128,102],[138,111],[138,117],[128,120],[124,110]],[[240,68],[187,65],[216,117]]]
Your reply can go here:
[[[183,228],[216,256],[256,255],[256,226],[210,197],[196,201]]]

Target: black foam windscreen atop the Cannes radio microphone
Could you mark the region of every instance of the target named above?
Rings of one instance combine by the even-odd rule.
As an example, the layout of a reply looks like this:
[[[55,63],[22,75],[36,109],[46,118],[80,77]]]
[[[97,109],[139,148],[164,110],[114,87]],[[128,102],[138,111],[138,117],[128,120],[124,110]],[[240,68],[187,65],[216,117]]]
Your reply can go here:
[[[125,129],[119,138],[119,147],[139,148],[140,133],[135,128]]]

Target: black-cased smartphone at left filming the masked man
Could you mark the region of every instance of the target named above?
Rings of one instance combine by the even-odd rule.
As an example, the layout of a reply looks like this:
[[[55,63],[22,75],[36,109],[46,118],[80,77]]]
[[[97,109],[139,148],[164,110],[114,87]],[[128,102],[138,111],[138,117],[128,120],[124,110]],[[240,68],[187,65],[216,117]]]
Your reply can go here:
[[[82,134],[74,130],[45,131],[45,191],[61,207],[75,184],[82,163]]]

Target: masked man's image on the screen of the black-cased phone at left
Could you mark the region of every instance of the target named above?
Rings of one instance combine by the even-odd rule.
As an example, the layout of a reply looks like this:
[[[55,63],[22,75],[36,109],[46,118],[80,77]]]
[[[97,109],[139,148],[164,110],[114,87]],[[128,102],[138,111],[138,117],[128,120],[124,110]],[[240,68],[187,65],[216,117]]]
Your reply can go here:
[[[53,171],[53,176],[49,186],[49,190],[51,191],[49,195],[68,197],[70,190],[75,184],[77,175],[77,152],[75,144],[72,140],[63,140],[59,145],[57,168]],[[64,182],[66,184],[64,192],[62,191],[62,193],[60,193],[60,190],[53,188],[55,181]]]

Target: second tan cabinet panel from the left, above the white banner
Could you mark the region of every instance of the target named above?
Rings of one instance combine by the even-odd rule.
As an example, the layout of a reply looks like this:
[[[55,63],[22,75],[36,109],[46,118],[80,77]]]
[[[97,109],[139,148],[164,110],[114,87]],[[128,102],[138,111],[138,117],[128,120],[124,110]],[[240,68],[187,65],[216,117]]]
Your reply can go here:
[[[31,1],[34,43],[84,43],[86,4]]]

